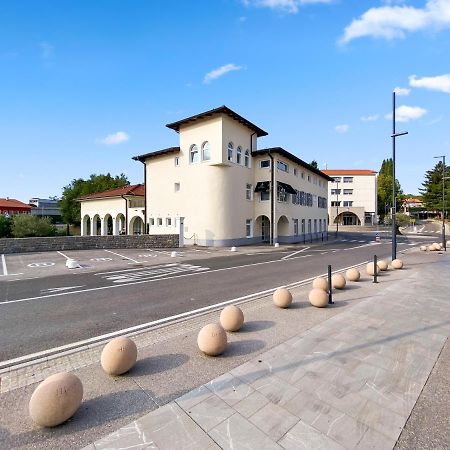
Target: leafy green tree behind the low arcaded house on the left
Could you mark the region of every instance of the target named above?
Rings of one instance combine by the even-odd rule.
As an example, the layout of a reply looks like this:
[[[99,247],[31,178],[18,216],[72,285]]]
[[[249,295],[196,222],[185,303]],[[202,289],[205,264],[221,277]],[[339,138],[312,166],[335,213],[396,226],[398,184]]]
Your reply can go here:
[[[71,225],[80,224],[80,202],[77,201],[77,198],[127,186],[128,184],[130,182],[123,173],[115,177],[112,177],[109,173],[106,175],[92,174],[87,180],[82,178],[72,180],[69,185],[64,186],[59,202],[64,222]]]

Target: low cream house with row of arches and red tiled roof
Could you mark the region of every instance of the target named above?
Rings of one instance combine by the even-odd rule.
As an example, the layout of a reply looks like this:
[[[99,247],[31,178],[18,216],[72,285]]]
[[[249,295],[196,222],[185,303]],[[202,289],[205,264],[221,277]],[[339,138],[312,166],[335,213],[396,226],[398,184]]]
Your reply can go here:
[[[144,191],[135,184],[80,197],[81,236],[144,234]]]

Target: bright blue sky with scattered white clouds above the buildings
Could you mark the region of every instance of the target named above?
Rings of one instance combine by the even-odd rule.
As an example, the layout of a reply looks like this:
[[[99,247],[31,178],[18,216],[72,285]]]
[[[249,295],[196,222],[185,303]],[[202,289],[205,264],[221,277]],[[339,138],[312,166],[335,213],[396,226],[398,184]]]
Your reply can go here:
[[[397,176],[417,193],[450,156],[449,55],[450,0],[3,0],[0,197],[142,182],[132,156],[222,104],[269,133],[259,148],[378,170],[395,88]]]

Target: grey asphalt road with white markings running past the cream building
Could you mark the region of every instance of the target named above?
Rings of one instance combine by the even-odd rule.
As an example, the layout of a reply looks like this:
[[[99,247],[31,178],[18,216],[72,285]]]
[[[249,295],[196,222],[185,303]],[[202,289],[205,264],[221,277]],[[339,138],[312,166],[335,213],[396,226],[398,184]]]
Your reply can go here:
[[[310,248],[2,281],[0,361],[298,282],[328,264],[339,270],[390,255],[390,242],[374,243],[373,234],[346,237]],[[399,251],[420,242],[401,237]]]

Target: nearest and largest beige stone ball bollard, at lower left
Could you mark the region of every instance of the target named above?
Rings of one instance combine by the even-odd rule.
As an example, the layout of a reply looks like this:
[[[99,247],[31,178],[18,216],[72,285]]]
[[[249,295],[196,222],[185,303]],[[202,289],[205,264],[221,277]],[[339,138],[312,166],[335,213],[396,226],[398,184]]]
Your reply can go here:
[[[73,373],[60,372],[46,378],[33,392],[28,410],[41,427],[55,427],[70,419],[83,400],[83,385]]]

